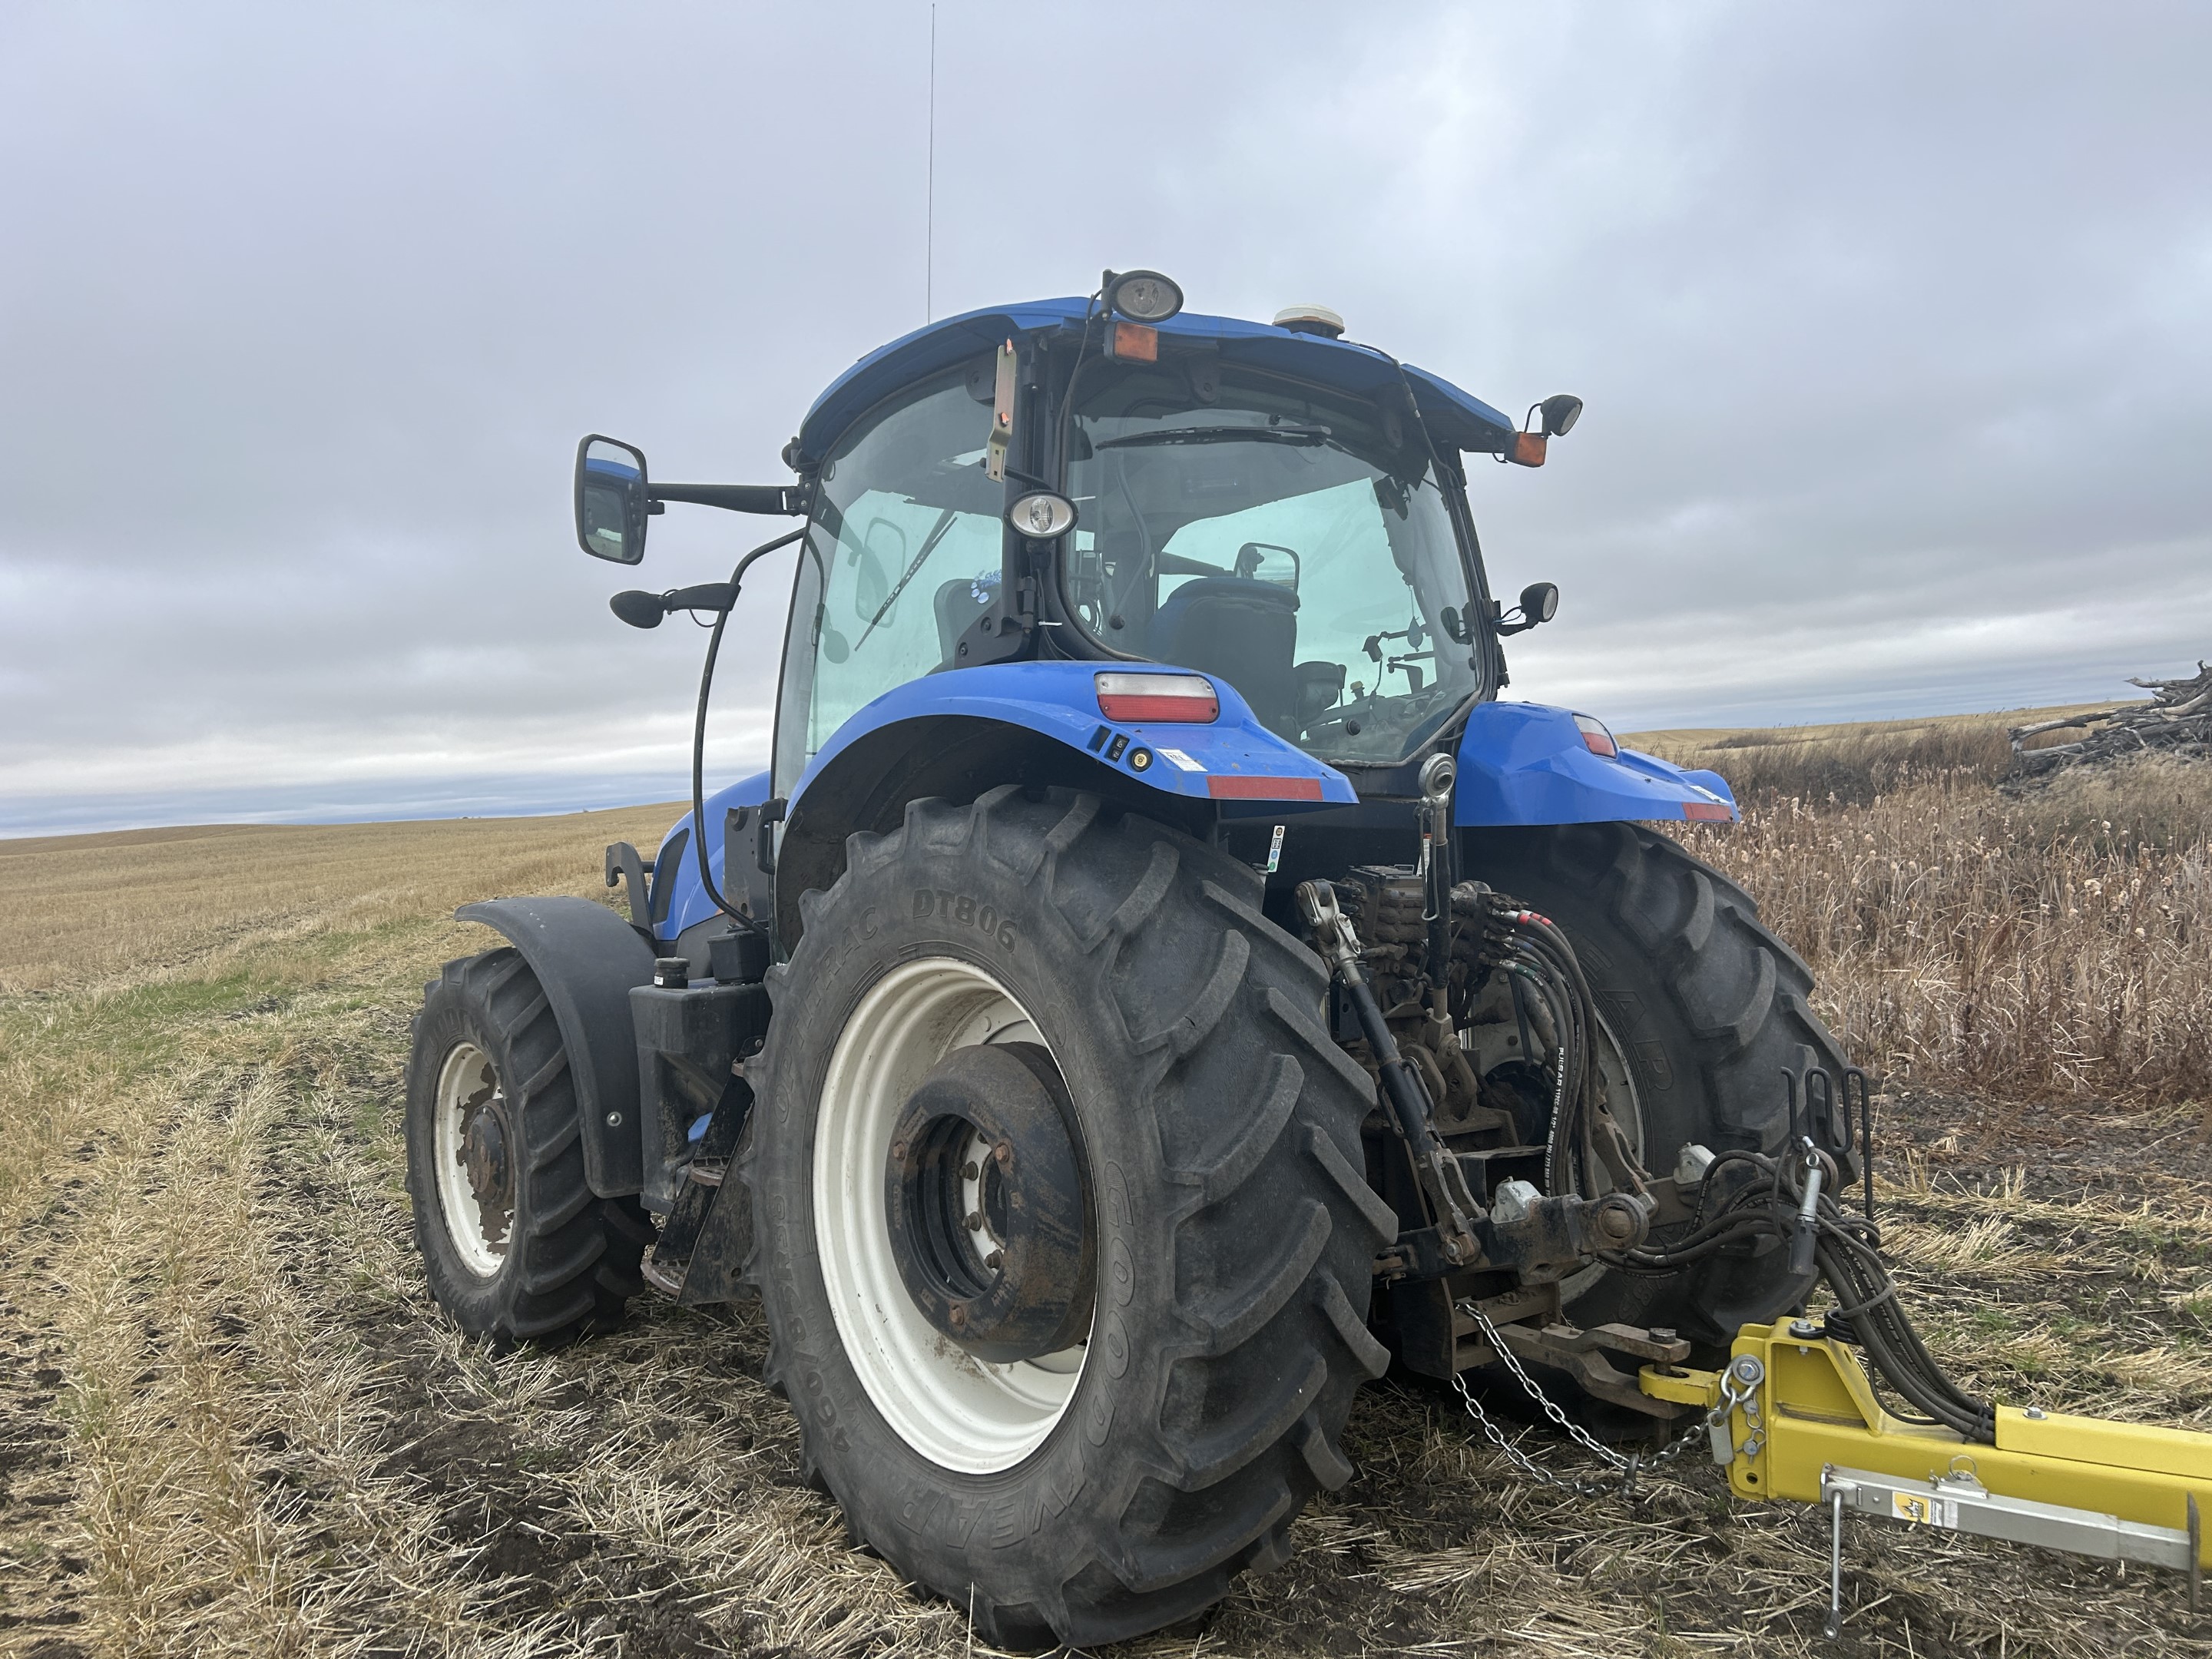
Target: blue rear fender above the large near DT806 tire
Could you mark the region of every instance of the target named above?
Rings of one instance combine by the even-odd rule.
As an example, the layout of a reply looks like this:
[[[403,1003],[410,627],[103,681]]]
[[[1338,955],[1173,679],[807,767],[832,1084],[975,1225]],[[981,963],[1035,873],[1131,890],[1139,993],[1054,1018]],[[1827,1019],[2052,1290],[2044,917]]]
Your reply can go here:
[[[1115,664],[1126,672],[1181,672]],[[1128,723],[1099,712],[1091,661],[927,675],[847,719],[792,790],[776,867],[776,933],[799,940],[799,896],[845,869],[845,838],[885,834],[909,801],[973,801],[1000,783],[1095,790],[1201,838],[1223,818],[1354,805],[1343,772],[1270,732],[1228,681],[1214,721]]]

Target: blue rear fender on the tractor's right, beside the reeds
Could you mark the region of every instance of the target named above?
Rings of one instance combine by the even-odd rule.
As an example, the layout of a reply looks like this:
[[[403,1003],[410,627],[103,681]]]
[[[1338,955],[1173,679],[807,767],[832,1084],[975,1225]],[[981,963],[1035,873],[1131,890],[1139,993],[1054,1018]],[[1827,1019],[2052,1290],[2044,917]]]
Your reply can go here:
[[[1688,772],[1655,754],[1593,754],[1564,708],[1478,703],[1460,739],[1453,821],[1462,827],[1736,818],[1717,772]]]

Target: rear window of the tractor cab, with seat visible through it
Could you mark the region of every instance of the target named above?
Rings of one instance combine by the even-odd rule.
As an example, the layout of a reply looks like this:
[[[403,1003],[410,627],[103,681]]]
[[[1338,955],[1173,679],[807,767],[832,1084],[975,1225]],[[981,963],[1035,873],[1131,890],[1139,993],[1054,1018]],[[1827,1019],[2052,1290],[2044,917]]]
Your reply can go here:
[[[1409,427],[1274,376],[1091,365],[1068,436],[1073,617],[1225,679],[1316,754],[1405,759],[1480,688],[1467,566]]]

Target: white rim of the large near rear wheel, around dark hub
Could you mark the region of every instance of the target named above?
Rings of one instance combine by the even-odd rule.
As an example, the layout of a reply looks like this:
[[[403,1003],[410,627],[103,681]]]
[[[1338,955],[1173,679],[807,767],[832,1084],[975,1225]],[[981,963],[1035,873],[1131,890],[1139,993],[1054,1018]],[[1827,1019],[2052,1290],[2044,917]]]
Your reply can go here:
[[[978,1360],[922,1316],[891,1256],[891,1130],[929,1068],[978,1042],[1051,1053],[1013,993],[969,962],[902,962],[869,987],[823,1077],[814,1243],[838,1338],[883,1420],[933,1464],[989,1475],[1022,1462],[1066,1416],[1086,1345],[1015,1365]]]

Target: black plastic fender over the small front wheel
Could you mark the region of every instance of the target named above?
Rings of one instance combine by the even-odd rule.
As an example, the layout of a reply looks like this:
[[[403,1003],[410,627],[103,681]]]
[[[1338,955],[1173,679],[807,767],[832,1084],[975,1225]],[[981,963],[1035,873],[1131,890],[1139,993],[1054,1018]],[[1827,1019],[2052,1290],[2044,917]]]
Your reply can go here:
[[[588,898],[491,898],[462,905],[453,916],[495,927],[531,964],[560,1022],[584,1115],[584,1179],[602,1199],[637,1192],[644,1139],[630,987],[653,980],[653,947]],[[526,1077],[507,1082],[511,1088],[529,1084]]]

